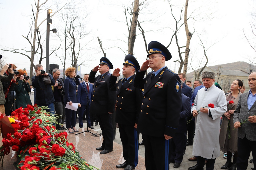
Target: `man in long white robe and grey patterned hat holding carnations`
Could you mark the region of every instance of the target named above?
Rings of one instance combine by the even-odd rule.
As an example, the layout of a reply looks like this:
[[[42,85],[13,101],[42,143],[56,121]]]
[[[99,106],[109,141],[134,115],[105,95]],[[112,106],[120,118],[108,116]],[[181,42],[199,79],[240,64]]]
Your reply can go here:
[[[214,77],[213,72],[202,73],[205,88],[198,91],[191,108],[196,117],[193,155],[198,158],[197,164],[188,168],[189,170],[203,170],[205,158],[208,159],[206,170],[213,170],[215,159],[220,155],[220,117],[227,110],[227,103],[224,92],[214,85]],[[210,103],[214,104],[214,108],[208,107]]]

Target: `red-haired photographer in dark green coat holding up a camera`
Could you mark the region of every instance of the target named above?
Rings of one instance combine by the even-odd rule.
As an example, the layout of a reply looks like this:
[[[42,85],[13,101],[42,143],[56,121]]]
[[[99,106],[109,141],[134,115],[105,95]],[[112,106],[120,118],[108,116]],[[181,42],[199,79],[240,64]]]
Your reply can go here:
[[[18,81],[16,82],[14,91],[16,92],[16,107],[26,108],[28,104],[32,104],[29,93],[31,88],[29,86],[29,76],[24,70],[18,70],[19,76]]]

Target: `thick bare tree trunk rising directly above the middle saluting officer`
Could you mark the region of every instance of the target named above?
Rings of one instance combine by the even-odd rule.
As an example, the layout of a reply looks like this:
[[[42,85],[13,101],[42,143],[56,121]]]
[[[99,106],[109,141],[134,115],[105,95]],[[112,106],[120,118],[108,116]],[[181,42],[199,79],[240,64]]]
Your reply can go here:
[[[136,27],[139,15],[139,0],[135,0],[133,4],[133,13],[132,13],[132,25],[130,29],[129,43],[128,43],[128,54],[133,55],[133,47],[136,39]]]

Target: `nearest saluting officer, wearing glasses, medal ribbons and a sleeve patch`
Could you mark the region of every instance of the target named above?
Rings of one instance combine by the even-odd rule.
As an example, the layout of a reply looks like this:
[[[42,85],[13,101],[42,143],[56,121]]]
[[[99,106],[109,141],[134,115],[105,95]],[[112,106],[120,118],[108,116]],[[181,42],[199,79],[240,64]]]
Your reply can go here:
[[[179,124],[181,83],[179,76],[165,66],[172,58],[169,50],[157,41],[150,42],[148,50],[148,60],[134,79],[135,87],[144,88],[137,131],[144,134],[146,169],[169,169],[169,139]],[[149,67],[154,71],[144,78]]]

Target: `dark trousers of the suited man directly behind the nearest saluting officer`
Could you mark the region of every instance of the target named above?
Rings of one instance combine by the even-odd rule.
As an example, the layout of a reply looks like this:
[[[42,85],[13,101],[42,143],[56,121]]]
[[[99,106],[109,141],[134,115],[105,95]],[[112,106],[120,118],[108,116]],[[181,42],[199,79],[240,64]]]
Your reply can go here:
[[[184,133],[176,133],[170,140],[170,160],[181,163],[183,159]]]

